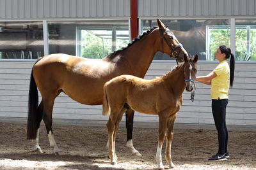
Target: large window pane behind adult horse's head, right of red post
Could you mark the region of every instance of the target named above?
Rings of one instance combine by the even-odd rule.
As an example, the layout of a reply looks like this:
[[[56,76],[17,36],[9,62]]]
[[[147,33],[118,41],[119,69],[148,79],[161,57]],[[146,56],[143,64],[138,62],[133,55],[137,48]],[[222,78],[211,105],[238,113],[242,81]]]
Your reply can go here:
[[[212,36],[216,41],[212,44],[207,45],[207,27],[211,25],[220,25],[223,29],[230,32],[230,19],[209,19],[209,20],[161,20],[164,25],[173,31],[177,39],[187,50],[189,55],[199,55],[200,60],[213,60],[212,53],[216,52],[214,46],[217,43],[223,43],[216,36]],[[141,20],[142,31],[147,31],[151,27],[157,26],[156,20]],[[212,30],[211,33],[214,31]],[[218,31],[217,31],[218,32]],[[228,37],[230,39],[230,35]],[[229,41],[227,45],[230,45]],[[209,52],[209,46],[211,47],[211,52]],[[157,52],[155,60],[173,60],[167,54]]]

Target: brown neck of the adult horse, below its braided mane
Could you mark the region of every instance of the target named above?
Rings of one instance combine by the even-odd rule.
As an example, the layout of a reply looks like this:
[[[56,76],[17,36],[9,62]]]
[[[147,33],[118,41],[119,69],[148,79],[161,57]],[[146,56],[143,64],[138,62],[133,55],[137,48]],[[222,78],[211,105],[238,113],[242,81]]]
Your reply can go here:
[[[133,45],[122,51],[122,60],[132,68],[134,76],[143,78],[147,73],[154,55],[159,50],[159,32],[158,29],[153,30],[149,34],[143,36],[141,39],[134,42]]]

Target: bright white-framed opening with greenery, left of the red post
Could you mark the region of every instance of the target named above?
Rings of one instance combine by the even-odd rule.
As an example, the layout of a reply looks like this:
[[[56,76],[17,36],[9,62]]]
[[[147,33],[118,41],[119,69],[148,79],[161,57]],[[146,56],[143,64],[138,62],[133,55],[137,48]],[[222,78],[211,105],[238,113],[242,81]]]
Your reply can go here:
[[[129,43],[129,30],[122,27],[77,27],[77,56],[102,59]]]

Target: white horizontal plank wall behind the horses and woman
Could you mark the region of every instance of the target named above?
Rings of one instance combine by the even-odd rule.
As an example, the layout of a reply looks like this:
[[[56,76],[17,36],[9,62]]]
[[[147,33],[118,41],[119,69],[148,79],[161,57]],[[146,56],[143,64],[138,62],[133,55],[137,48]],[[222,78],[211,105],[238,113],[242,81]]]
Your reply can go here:
[[[28,89],[31,67],[35,61],[0,61],[0,117],[27,117]],[[217,62],[199,62],[198,76],[210,73]],[[153,62],[146,79],[162,76],[175,66],[174,62]],[[255,63],[237,63],[233,89],[227,107],[227,124],[256,125]],[[40,93],[39,93],[40,94]],[[195,101],[184,92],[184,103],[176,122],[213,124],[210,86],[196,83]],[[60,94],[54,103],[53,118],[108,120],[102,116],[102,106],[88,106]],[[124,118],[123,118],[124,120]],[[157,116],[136,113],[134,121],[158,122]]]

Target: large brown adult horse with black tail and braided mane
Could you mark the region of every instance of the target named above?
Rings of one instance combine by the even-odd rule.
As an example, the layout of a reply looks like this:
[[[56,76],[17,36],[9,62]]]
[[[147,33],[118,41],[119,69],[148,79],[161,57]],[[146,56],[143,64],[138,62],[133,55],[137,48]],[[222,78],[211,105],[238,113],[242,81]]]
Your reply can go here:
[[[136,38],[126,48],[104,57],[104,59],[84,59],[63,53],[41,57],[31,73],[29,87],[28,139],[33,139],[35,150],[42,152],[38,145],[40,122],[44,120],[50,146],[54,153],[60,150],[52,134],[52,108],[54,99],[64,92],[82,104],[98,105],[103,101],[103,86],[106,81],[122,74],[143,78],[157,51],[168,53],[182,62],[188,55],[165,25],[157,20],[155,27]],[[38,91],[42,101],[38,106]],[[127,147],[140,155],[132,145],[133,110],[126,111]]]

